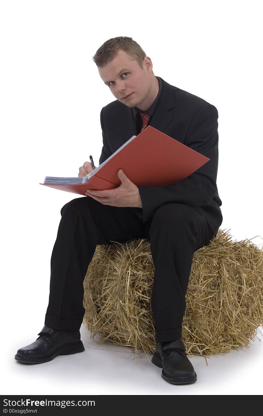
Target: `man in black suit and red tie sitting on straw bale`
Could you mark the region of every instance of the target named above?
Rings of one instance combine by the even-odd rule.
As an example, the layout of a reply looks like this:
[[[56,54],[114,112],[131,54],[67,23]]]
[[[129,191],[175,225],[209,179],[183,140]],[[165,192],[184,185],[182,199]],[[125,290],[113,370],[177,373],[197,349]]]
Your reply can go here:
[[[155,77],[151,59],[130,37],[109,39],[93,60],[116,97],[101,110],[100,164],[149,124],[210,160],[171,186],[136,186],[123,166],[118,188],[89,190],[88,198],[64,205],[51,257],[45,325],[39,338],[19,349],[15,359],[42,363],[83,351],[79,332],[85,312],[83,280],[96,245],[149,238],[155,265],[152,363],[162,367],[166,381],[192,383],[197,375],[185,354],[182,319],[194,252],[209,244],[222,223],[216,186],[218,113],[203,99]],[[79,176],[91,171],[91,163],[85,162]]]

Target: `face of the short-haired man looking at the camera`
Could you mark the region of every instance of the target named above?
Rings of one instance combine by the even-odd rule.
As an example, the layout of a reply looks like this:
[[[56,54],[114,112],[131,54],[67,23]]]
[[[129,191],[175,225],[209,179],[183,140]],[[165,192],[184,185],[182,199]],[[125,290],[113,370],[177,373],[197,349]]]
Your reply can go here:
[[[114,97],[128,107],[147,106],[147,97],[154,85],[152,62],[149,57],[143,61],[143,69],[137,61],[123,50],[104,67],[98,67],[101,79],[111,90]],[[127,95],[131,94],[129,97]]]

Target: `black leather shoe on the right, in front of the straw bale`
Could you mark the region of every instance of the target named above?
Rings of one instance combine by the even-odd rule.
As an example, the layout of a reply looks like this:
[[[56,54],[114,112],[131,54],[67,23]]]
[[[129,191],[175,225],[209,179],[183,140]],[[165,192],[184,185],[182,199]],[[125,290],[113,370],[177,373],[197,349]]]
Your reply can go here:
[[[188,384],[197,381],[194,367],[185,354],[182,339],[157,342],[152,363],[162,368],[162,378],[172,384]]]

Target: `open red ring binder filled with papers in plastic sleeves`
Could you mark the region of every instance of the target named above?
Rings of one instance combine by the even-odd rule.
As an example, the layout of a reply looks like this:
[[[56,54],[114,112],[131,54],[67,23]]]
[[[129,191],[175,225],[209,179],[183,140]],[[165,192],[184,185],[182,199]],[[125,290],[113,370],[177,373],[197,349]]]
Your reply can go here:
[[[106,190],[119,186],[119,169],[136,186],[172,185],[187,178],[209,160],[167,134],[147,126],[86,177],[46,176],[40,185],[85,195],[86,189]]]

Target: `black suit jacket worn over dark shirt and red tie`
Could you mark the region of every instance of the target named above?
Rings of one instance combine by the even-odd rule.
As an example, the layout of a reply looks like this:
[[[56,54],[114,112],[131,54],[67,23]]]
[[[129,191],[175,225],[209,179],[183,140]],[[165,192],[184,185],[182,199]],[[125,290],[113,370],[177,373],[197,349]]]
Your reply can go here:
[[[161,78],[162,79],[162,78]],[[162,91],[150,126],[189,146],[210,160],[183,181],[169,186],[138,186],[143,222],[152,220],[155,210],[165,203],[196,207],[206,218],[214,235],[223,217],[216,176],[218,168],[218,112],[215,106],[162,79]],[[146,127],[147,128],[147,127]],[[116,100],[101,109],[103,148],[99,164],[131,136],[137,135],[133,109]],[[135,161],[136,163],[136,161]],[[158,168],[158,161],[156,161]],[[125,173],[125,166],[122,166]]]

